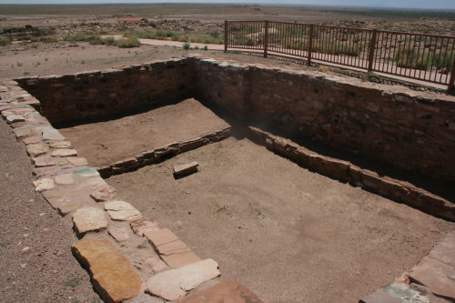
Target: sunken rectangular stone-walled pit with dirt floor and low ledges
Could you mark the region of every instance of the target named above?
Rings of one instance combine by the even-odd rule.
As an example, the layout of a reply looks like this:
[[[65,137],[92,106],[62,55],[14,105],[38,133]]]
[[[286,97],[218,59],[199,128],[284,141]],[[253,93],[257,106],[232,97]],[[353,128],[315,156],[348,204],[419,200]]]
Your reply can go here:
[[[238,279],[266,302],[351,302],[399,277],[455,227],[455,165],[437,164],[454,146],[449,125],[430,139],[400,126],[406,134],[388,141],[396,130],[382,120],[392,107],[401,115],[403,106],[427,110],[432,121],[454,106],[420,106],[389,93],[399,103],[390,106],[389,95],[372,88],[349,85],[342,93],[324,81],[194,58],[18,79],[118,197],[201,258],[216,259],[223,279]],[[325,86],[335,93],[324,96]],[[346,108],[330,99],[341,94]],[[356,98],[370,111],[350,104]],[[365,116],[375,119],[366,125]],[[370,136],[382,141],[371,146]],[[393,142],[398,137],[402,145]],[[421,149],[417,163],[410,141],[419,140],[434,145]],[[173,166],[192,161],[196,174],[172,176]]]

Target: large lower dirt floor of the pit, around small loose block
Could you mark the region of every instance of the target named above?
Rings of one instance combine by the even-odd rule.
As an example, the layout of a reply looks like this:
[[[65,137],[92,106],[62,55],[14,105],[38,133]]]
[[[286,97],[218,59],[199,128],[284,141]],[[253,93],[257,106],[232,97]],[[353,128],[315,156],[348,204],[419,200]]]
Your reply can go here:
[[[190,161],[199,172],[175,180]],[[270,303],[354,302],[455,227],[233,137],[107,182]]]

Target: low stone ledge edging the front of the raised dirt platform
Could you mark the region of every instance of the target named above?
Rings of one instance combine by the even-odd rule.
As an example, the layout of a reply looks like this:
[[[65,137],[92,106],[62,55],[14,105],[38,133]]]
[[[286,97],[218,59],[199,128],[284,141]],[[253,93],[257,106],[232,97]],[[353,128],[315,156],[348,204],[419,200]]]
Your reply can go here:
[[[167,157],[177,156],[178,154],[184,153],[188,150],[196,149],[200,146],[205,146],[210,143],[218,142],[231,136],[232,127],[226,127],[216,132],[211,132],[203,136],[197,136],[196,138],[172,143],[167,146],[158,147],[155,149],[147,150],[143,153],[137,154],[134,157],[128,157],[126,159],[117,161],[116,163],[105,166],[96,167],[101,177],[110,177],[113,175],[123,174],[128,171],[136,170],[140,167],[146,167],[148,165],[158,163],[166,159]]]

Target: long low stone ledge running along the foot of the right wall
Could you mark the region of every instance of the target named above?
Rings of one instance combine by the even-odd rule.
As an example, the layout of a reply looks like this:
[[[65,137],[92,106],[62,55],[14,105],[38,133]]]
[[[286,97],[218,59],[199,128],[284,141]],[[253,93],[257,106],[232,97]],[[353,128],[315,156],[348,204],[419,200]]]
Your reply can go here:
[[[455,204],[421,188],[412,187],[408,183],[391,177],[379,177],[376,172],[357,167],[349,161],[321,156],[258,127],[248,126],[248,137],[278,155],[314,169],[319,174],[360,186],[381,196],[418,208],[430,215],[455,221]]]

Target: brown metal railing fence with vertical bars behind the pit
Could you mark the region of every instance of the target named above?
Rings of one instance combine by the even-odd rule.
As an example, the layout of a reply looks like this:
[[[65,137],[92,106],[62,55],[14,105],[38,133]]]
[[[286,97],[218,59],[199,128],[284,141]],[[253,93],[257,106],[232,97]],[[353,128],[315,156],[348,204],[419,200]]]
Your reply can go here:
[[[448,86],[455,36],[274,21],[226,21],[225,50],[249,49]]]

